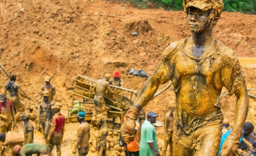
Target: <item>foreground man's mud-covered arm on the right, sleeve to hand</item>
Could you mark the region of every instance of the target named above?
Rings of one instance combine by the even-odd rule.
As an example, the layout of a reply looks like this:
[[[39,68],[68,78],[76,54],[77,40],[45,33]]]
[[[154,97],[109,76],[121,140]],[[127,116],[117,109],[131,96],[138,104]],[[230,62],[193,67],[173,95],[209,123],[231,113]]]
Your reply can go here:
[[[229,90],[230,94],[237,97],[235,109],[235,121],[230,136],[222,146],[221,156],[236,156],[240,138],[242,136],[242,127],[247,117],[249,96],[247,93],[244,77],[242,76],[240,65],[234,52],[227,49],[228,60],[225,60],[224,67],[221,69],[222,84]],[[230,60],[230,58],[233,60]]]

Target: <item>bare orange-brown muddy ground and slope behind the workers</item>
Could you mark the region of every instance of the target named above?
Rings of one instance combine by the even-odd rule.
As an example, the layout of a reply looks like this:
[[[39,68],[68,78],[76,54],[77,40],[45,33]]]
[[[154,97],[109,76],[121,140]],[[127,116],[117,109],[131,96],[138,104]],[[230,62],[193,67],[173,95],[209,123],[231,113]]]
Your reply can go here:
[[[239,57],[256,57],[255,24],[256,15],[224,12],[213,37],[232,48]],[[139,34],[132,36],[132,31]],[[105,73],[120,71],[125,88],[139,91],[146,78],[129,75],[129,69],[143,69],[153,74],[166,46],[189,36],[183,11],[140,10],[128,4],[99,0],[0,1],[0,62],[7,71],[19,74],[17,82],[35,100],[44,77],[52,77],[57,102],[64,104],[63,111],[71,102],[67,88],[77,74],[99,79]],[[256,88],[256,69],[242,67],[242,71],[247,88]],[[1,91],[7,81],[1,71]],[[174,99],[171,87],[149,102],[145,111],[154,110],[163,122],[168,105]],[[37,111],[37,104],[21,100],[27,110]],[[224,96],[221,104],[224,118],[232,122],[236,97]],[[255,110],[256,102],[250,99],[247,120],[256,126]],[[72,156],[70,146],[77,125],[66,125],[64,156]],[[162,133],[163,128],[157,128],[160,140]],[[40,133],[36,132],[35,138],[43,142]]]

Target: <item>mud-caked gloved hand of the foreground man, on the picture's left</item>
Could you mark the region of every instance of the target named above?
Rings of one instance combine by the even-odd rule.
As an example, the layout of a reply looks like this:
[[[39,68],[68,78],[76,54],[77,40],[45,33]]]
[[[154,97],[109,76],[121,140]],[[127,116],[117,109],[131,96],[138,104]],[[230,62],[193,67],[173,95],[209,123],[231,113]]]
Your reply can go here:
[[[124,117],[124,122],[121,126],[121,134],[124,142],[134,141],[134,130],[136,127],[135,119],[139,116],[140,109],[131,106]]]

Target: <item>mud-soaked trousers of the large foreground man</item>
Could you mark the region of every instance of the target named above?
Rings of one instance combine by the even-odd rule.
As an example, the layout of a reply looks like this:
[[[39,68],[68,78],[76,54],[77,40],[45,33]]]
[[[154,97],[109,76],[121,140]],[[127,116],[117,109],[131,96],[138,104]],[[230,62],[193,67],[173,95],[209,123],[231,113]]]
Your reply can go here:
[[[222,121],[220,110],[212,119],[187,130],[175,121],[172,136],[174,156],[218,156]]]

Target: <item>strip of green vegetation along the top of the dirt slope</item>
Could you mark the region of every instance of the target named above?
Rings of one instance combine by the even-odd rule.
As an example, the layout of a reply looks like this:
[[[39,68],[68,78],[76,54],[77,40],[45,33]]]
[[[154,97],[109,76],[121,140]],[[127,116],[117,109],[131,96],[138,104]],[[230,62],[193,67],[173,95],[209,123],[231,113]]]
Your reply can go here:
[[[125,0],[127,1],[127,0]],[[166,10],[182,10],[183,0],[128,0],[132,6],[140,9],[164,8]],[[256,14],[255,0],[223,0],[224,11],[238,11],[245,14]]]

